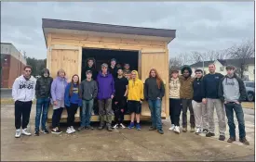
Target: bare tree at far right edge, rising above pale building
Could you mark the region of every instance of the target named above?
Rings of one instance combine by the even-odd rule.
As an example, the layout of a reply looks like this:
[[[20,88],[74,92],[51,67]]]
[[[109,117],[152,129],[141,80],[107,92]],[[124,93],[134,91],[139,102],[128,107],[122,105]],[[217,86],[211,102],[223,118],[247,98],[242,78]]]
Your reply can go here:
[[[240,74],[242,79],[244,78],[244,71],[246,68],[246,61],[255,55],[255,48],[253,41],[247,41],[243,44],[234,45],[228,50],[228,55],[231,58],[239,59],[239,67],[236,67],[236,72]]]

